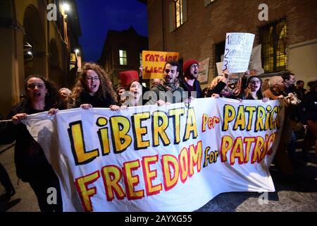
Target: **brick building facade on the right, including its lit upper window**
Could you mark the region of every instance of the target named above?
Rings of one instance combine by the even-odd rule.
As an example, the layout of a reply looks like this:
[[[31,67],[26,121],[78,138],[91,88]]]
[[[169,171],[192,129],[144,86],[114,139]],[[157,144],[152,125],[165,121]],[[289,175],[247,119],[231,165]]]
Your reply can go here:
[[[317,2],[268,0],[265,2],[268,20],[261,21],[259,13],[262,8],[259,9],[259,6],[262,3],[243,0],[147,0],[149,49],[180,52],[183,60],[194,58],[203,61],[209,58],[210,83],[216,75],[216,62],[224,52],[225,33],[250,32],[256,35],[254,46],[262,44],[262,64],[266,69],[263,77],[291,70],[297,75],[297,80],[316,80]],[[274,46],[264,45],[273,38],[274,31],[275,38],[280,39]],[[272,51],[275,57],[270,56]],[[263,59],[263,54],[271,59]]]

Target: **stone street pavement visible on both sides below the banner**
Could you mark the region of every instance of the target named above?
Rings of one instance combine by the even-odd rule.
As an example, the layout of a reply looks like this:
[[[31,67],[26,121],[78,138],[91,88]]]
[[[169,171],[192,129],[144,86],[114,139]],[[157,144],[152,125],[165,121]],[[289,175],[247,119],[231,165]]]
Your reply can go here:
[[[0,151],[8,145],[0,145]],[[313,151],[311,152],[313,154]],[[7,200],[0,186],[0,212],[37,212],[39,207],[35,194],[29,184],[24,183],[15,175],[13,148],[0,153],[0,162],[7,169],[16,194]],[[259,203],[261,194],[254,192],[230,192],[219,194],[198,212],[248,212],[248,211],[317,211],[317,165],[308,163],[297,167],[292,177],[285,177],[274,167],[271,169],[275,192],[268,193],[268,202]]]

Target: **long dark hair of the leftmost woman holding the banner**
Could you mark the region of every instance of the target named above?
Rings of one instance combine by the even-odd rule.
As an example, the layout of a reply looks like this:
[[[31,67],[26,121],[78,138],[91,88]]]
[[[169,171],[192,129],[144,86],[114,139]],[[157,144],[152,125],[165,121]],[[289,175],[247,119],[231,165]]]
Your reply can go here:
[[[58,95],[58,90],[56,89],[54,83],[49,81],[48,79],[44,78],[43,76],[38,76],[38,75],[31,75],[28,76],[25,79],[24,82],[24,89],[25,93],[27,91],[27,81],[30,80],[30,78],[39,78],[42,81],[44,81],[45,88],[47,89],[47,93],[45,96],[45,108],[44,109],[51,109],[51,108],[61,108],[61,98]],[[29,97],[26,96],[25,101],[30,101]]]

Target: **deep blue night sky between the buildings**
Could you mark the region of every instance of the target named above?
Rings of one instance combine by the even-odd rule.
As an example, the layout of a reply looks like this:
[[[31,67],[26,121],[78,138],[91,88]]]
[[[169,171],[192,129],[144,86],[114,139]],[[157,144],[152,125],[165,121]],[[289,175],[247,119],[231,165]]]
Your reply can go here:
[[[147,36],[147,6],[137,0],[76,0],[85,61],[100,58],[108,30],[126,30],[132,25]]]

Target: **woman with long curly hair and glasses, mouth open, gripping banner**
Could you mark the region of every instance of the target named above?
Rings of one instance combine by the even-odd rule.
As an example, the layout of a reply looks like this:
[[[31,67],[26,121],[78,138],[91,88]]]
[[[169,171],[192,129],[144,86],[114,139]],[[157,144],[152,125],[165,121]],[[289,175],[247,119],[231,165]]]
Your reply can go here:
[[[116,92],[106,72],[94,63],[86,63],[69,97],[68,108],[110,107],[118,110]]]

